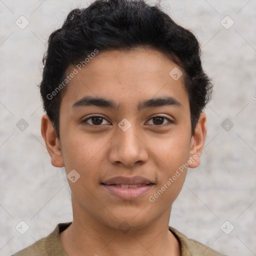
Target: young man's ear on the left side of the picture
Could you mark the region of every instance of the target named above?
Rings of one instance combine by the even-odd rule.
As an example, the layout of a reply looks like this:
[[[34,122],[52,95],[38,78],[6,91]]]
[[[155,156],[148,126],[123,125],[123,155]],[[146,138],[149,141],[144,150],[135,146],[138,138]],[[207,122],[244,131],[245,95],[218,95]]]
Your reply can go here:
[[[63,167],[61,144],[56,136],[56,131],[48,117],[44,114],[41,119],[41,134],[44,139],[47,151],[50,155],[51,164],[55,167]]]

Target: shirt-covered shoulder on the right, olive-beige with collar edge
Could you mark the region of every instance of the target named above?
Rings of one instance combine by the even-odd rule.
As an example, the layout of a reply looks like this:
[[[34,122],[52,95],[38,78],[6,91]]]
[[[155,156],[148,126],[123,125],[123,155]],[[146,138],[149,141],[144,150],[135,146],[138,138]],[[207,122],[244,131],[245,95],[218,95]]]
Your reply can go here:
[[[176,236],[181,246],[182,256],[226,256],[205,244],[186,237],[184,234],[169,226],[169,230]]]

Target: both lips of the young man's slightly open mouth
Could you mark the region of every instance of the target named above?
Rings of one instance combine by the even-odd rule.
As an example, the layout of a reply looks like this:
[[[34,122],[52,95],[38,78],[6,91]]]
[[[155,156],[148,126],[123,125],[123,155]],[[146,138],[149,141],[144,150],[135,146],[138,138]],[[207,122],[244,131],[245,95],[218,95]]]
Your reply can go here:
[[[121,184],[141,184],[139,187],[121,187]],[[101,183],[104,189],[110,194],[123,199],[123,200],[132,200],[141,197],[146,194],[154,185],[149,179],[142,176],[133,176],[133,177],[123,177],[117,176],[105,180]]]

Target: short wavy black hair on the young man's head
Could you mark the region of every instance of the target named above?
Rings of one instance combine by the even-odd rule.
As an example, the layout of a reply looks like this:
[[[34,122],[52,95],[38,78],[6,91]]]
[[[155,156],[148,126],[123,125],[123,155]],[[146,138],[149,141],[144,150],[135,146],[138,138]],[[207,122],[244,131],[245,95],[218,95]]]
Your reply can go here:
[[[160,50],[184,71],[191,133],[194,133],[212,91],[211,79],[202,69],[200,45],[194,34],[176,24],[158,4],[151,6],[144,0],[96,0],[87,8],[69,12],[62,27],[50,34],[43,56],[40,93],[58,138],[59,108],[68,82],[68,67],[85,63],[84,59],[95,50],[136,47]]]

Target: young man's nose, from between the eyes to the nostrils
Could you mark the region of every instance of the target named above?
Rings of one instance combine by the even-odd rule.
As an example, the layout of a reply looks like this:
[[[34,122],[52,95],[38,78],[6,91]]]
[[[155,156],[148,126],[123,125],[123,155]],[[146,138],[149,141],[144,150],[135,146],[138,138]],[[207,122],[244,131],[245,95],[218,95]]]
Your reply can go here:
[[[148,159],[148,147],[141,132],[135,129],[135,125],[131,125],[126,131],[119,127],[116,129],[109,149],[109,161],[126,167],[132,167],[135,163],[145,163]]]

